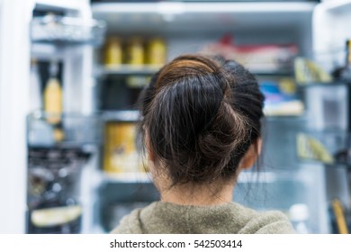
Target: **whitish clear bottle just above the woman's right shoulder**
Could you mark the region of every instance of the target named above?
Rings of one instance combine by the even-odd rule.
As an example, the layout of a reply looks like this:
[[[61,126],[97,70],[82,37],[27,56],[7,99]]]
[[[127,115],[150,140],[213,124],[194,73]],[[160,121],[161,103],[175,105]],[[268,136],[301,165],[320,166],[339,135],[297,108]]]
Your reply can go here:
[[[310,211],[306,204],[297,203],[293,204],[289,209],[290,220],[293,223],[293,228],[299,234],[309,234],[308,220],[310,219]]]

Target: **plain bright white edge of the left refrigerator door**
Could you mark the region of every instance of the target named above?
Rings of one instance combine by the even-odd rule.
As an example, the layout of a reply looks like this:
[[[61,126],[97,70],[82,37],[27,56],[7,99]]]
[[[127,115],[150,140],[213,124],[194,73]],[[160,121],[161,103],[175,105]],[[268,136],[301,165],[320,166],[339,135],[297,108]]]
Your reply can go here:
[[[23,233],[30,79],[29,24],[34,0],[0,3],[0,233]]]

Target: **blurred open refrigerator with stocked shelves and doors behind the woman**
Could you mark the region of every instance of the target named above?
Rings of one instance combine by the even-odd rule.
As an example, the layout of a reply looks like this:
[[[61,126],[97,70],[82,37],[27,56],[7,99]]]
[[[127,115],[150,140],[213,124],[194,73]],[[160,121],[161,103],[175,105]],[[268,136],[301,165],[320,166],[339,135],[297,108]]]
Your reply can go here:
[[[237,60],[266,94],[262,162],[233,200],[301,233],[348,233],[350,13],[350,0],[0,0],[0,233],[107,233],[158,200],[137,99],[189,52]]]

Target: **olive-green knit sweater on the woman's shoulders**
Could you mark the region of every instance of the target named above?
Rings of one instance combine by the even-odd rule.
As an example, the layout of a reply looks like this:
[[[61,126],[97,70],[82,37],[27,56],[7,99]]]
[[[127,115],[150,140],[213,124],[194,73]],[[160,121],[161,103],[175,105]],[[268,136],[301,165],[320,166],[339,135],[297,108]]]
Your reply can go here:
[[[112,233],[120,234],[285,234],[293,227],[280,211],[259,212],[238,203],[213,206],[153,202],[131,211]]]

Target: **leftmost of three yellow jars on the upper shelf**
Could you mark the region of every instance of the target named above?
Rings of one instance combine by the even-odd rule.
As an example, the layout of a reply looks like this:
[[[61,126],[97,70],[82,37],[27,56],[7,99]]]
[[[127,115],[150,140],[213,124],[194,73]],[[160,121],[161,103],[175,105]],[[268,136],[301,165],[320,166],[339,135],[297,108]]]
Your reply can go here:
[[[104,47],[104,65],[106,67],[118,67],[122,64],[121,39],[112,36],[107,39]]]

